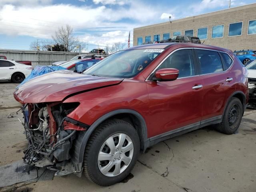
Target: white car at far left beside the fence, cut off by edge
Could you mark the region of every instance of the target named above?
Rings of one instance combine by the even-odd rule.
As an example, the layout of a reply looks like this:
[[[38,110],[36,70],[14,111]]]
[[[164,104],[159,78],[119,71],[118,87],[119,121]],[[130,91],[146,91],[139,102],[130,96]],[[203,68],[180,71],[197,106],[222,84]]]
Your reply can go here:
[[[0,59],[0,81],[12,80],[14,83],[21,83],[32,70],[32,66],[13,60]]]

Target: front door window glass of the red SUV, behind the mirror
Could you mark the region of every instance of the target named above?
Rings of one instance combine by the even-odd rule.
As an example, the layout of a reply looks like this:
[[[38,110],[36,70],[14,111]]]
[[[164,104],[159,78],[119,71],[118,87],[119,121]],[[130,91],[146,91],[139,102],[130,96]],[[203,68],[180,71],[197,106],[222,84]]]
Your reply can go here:
[[[195,75],[194,60],[190,49],[171,54],[158,69],[175,68],[180,71],[178,78]]]

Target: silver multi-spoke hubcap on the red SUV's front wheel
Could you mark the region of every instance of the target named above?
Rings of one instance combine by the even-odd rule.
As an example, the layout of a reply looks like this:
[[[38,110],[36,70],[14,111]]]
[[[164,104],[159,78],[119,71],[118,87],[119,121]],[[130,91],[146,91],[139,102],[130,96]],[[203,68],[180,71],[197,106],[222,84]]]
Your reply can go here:
[[[110,136],[100,148],[98,168],[104,176],[114,177],[126,170],[134,152],[131,138],[118,133]]]

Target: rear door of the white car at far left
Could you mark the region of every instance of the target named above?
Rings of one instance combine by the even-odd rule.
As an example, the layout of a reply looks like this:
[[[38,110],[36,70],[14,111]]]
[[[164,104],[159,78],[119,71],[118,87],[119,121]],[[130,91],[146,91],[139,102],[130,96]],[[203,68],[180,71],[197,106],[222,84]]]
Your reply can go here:
[[[0,60],[0,79],[10,80],[16,66],[9,61]]]

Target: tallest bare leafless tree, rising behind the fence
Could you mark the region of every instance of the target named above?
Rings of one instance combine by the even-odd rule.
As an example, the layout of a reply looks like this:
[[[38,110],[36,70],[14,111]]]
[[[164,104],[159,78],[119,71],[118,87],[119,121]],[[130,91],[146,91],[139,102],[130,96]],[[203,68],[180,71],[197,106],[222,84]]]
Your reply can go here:
[[[66,25],[66,27],[58,28],[55,31],[55,35],[52,36],[52,39],[56,44],[64,45],[64,50],[68,52],[75,52],[77,50],[81,50],[80,42],[77,37],[74,36],[73,28],[70,25]]]

